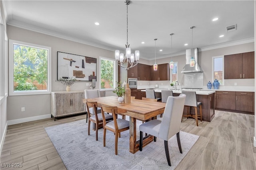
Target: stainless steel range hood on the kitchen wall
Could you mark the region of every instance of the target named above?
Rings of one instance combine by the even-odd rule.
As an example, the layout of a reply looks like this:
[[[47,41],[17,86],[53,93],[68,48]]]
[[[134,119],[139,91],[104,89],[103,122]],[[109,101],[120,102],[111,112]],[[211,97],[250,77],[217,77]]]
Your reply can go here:
[[[194,67],[191,67],[189,65],[189,61],[192,57],[196,60],[196,64]],[[186,65],[182,69],[182,73],[190,73],[190,72],[203,72],[202,68],[200,67],[199,63],[199,51],[198,48],[193,48],[193,49],[187,49],[186,50]]]

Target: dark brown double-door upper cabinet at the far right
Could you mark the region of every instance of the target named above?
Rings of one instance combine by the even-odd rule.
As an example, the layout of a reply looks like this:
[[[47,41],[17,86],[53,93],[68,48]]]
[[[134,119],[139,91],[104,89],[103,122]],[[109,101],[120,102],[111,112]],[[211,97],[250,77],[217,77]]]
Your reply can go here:
[[[224,56],[224,79],[254,78],[254,51]]]

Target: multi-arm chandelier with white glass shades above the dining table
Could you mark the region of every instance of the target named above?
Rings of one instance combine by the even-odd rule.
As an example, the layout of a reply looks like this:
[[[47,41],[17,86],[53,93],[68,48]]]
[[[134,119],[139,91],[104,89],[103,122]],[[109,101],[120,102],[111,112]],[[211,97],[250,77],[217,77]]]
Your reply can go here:
[[[127,42],[126,42],[126,54],[120,53],[119,50],[115,51],[115,58],[116,63],[120,65],[121,67],[125,68],[125,70],[129,70],[129,68],[132,68],[138,64],[138,61],[140,59],[140,51],[136,50],[135,55],[131,53],[131,48],[129,47],[130,44],[128,44],[128,5],[130,4],[130,0],[125,0],[124,3],[126,4],[126,35],[127,35]],[[136,60],[136,63],[134,63],[134,60]],[[125,64],[126,63],[126,64]]]

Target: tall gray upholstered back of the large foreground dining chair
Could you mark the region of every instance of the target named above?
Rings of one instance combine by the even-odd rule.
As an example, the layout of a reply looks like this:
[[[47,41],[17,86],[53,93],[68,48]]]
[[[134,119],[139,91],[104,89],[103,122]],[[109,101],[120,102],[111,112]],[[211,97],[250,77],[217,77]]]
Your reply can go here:
[[[180,94],[177,97],[168,97],[159,129],[160,139],[168,141],[173,135],[180,132],[185,98],[185,94]]]

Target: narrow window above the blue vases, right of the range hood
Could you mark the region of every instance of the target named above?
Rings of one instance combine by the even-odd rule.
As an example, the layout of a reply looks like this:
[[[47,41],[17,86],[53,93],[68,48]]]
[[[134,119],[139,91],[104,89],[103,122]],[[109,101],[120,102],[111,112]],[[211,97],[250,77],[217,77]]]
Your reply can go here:
[[[213,80],[215,79],[219,80],[220,86],[224,85],[224,56],[217,56],[217,57],[212,57],[212,63],[213,63]]]

